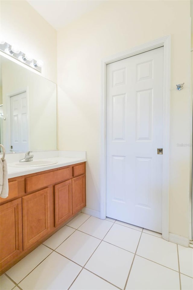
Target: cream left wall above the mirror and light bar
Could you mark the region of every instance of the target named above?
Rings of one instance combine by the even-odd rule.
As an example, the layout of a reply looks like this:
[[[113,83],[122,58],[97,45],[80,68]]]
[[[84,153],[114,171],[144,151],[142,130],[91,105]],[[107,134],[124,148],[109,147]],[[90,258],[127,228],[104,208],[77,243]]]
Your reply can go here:
[[[57,82],[55,29],[27,1],[0,1],[0,32],[6,42],[43,60],[42,76]]]

